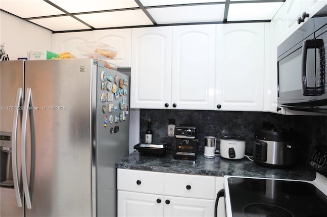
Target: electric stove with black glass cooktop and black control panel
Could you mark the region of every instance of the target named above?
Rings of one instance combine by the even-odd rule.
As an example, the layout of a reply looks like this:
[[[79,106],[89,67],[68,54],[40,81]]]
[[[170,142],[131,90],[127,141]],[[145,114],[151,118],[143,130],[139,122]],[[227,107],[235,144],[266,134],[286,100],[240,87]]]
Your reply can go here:
[[[225,176],[226,215],[327,216],[327,149],[316,147],[313,181]]]

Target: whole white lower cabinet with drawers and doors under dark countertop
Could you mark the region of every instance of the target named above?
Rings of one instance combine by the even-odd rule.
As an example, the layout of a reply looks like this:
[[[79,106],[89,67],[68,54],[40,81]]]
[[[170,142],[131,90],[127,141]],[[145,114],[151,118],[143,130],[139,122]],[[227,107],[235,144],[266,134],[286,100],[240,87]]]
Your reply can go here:
[[[118,216],[214,216],[215,176],[117,171]],[[218,210],[225,216],[223,203]]]

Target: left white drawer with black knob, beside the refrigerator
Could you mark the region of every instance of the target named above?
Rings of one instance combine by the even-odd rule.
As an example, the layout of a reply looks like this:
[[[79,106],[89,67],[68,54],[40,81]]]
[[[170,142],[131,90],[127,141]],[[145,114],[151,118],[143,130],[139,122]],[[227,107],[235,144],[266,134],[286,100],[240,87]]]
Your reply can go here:
[[[129,192],[164,194],[165,174],[117,169],[117,189]]]

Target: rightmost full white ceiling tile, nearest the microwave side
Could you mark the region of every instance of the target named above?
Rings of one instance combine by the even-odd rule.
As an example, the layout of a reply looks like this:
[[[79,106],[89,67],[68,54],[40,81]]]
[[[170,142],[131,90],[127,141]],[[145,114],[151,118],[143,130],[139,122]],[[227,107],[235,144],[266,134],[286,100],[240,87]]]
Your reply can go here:
[[[283,2],[230,4],[227,21],[271,20]]]

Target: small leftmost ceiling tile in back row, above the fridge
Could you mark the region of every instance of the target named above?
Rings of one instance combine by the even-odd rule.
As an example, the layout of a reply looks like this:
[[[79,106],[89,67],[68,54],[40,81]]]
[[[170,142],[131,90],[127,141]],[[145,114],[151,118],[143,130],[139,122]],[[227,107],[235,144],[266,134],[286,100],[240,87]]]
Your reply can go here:
[[[29,20],[52,31],[89,30],[87,25],[71,16],[50,17]]]

